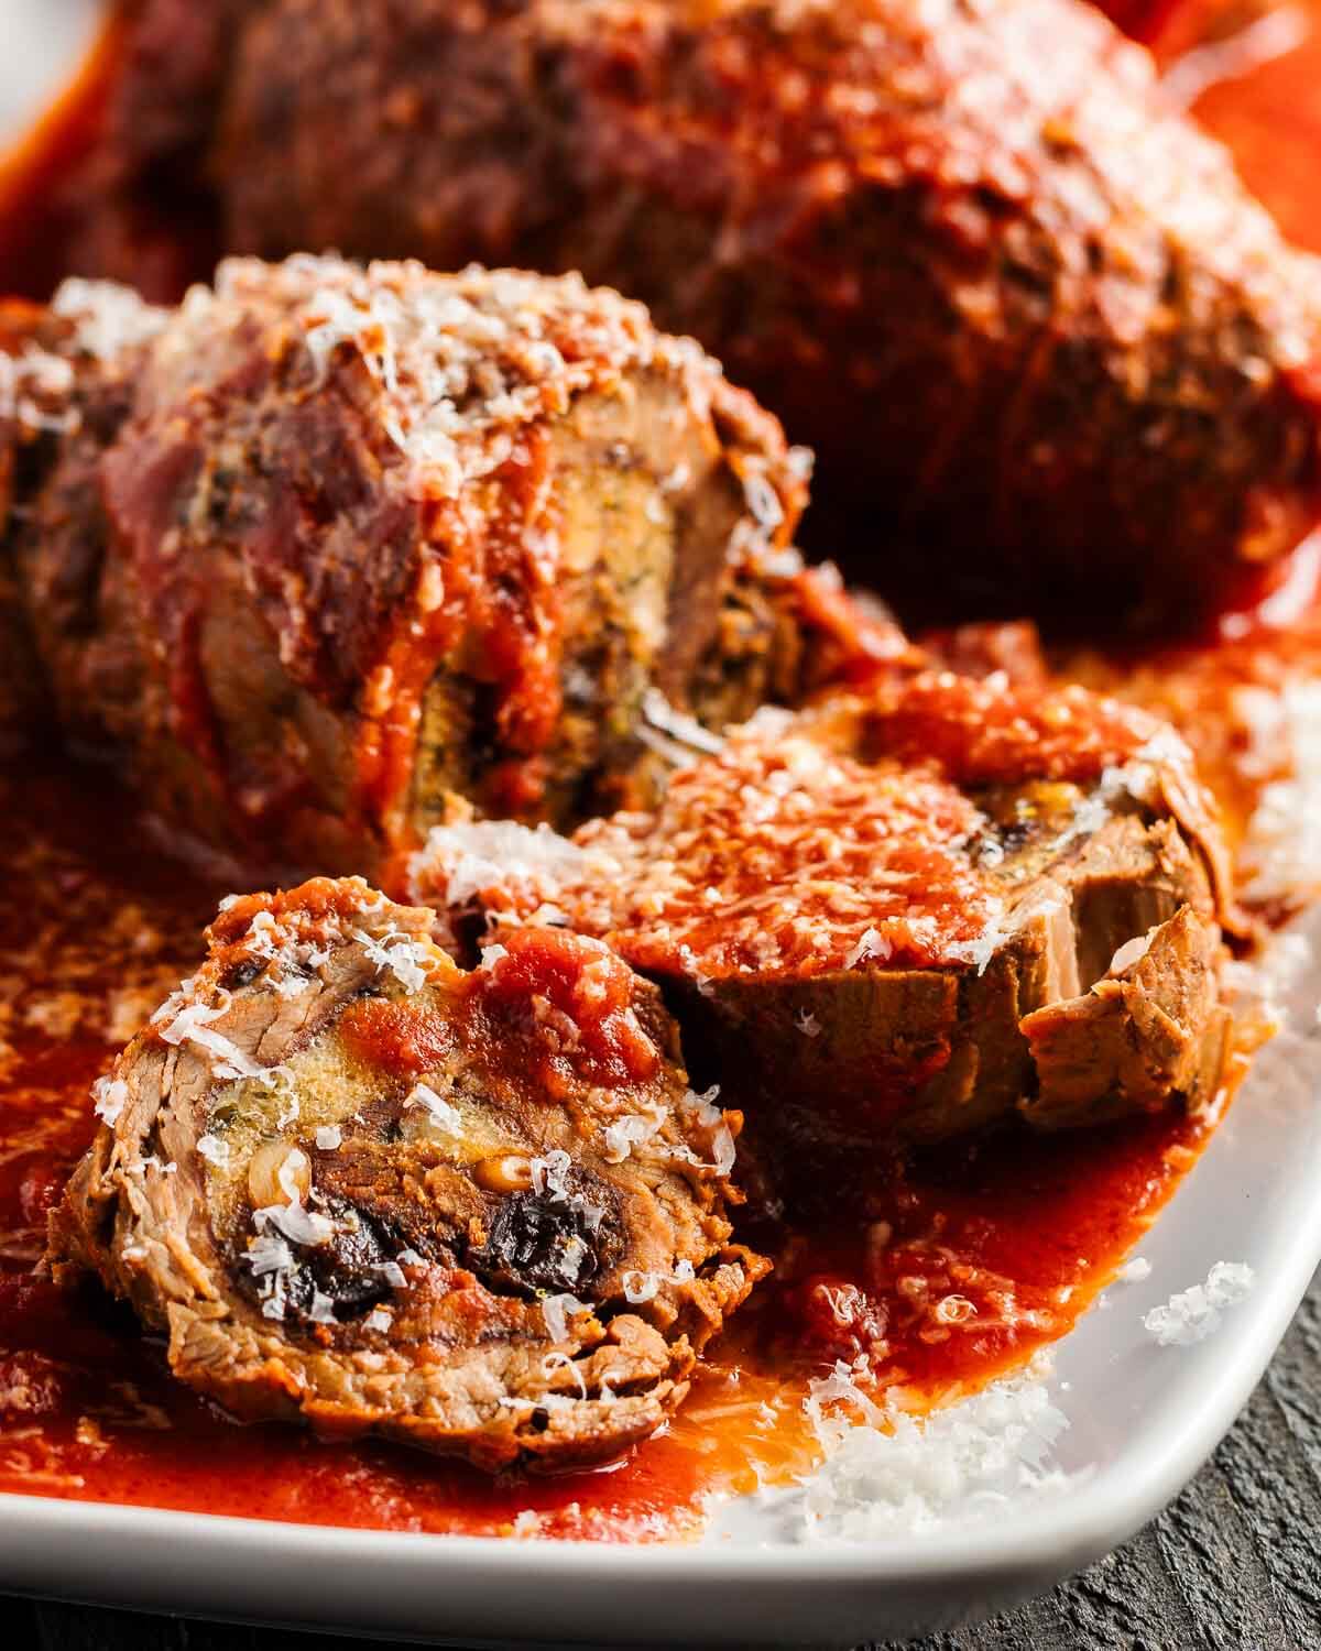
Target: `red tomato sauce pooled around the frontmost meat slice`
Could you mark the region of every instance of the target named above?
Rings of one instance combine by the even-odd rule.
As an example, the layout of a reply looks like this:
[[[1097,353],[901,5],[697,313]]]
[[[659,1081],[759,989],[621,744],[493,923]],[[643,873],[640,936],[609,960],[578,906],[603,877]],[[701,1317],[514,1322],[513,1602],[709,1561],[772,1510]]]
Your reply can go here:
[[[0,865],[3,1491],[391,1530],[500,1532],[530,1511],[540,1534],[690,1534],[707,1493],[812,1459],[801,1400],[836,1357],[867,1347],[885,1382],[936,1398],[1067,1331],[1200,1144],[1181,1118],[1014,1136],[913,1164],[824,1238],[778,1235],[781,1280],[715,1344],[670,1431],[611,1471],[489,1481],[243,1428],[173,1382],[132,1314],[38,1271],[45,1212],[92,1134],[89,1083],[195,966],[225,890],[160,855],[104,776],[28,763],[0,771]],[[948,1296],[973,1314],[943,1322]]]

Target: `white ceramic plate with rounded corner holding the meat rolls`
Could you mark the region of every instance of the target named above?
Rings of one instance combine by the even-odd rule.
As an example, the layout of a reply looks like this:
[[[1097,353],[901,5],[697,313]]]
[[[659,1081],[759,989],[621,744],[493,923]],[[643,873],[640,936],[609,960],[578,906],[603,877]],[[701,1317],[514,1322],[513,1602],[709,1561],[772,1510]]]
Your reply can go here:
[[[0,0],[0,135],[40,109],[86,43],[92,0]],[[1313,925],[1321,934],[1321,920]],[[1055,1451],[1080,1474],[994,1522],[869,1545],[798,1545],[728,1511],[698,1547],[616,1549],[395,1535],[0,1496],[0,1588],[347,1631],[495,1643],[847,1644],[987,1613],[1138,1530],[1227,1431],[1321,1260],[1321,1032],[1311,972],[1295,1030],[1257,1068],[1141,1250],[1060,1344]],[[1158,1347],[1148,1308],[1247,1261],[1252,1294],[1192,1347]]]

